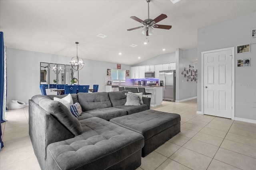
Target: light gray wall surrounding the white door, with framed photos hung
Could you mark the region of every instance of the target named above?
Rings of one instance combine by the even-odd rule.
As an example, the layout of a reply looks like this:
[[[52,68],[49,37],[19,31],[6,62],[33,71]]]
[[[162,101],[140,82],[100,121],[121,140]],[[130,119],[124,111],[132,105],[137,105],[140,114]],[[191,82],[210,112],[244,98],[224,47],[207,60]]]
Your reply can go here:
[[[248,14],[198,29],[198,111],[201,111],[201,53],[252,43],[251,29],[256,27],[256,13]],[[250,53],[235,52],[235,119],[256,120],[256,44]],[[251,58],[251,66],[237,67],[237,59]]]

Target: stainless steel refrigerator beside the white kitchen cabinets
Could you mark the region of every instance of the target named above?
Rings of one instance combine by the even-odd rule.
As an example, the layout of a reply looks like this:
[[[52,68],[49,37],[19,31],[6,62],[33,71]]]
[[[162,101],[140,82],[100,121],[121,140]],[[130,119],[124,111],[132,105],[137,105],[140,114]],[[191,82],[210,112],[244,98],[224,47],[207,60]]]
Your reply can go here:
[[[160,86],[164,86],[163,100],[175,102],[175,72],[176,70],[159,71]]]

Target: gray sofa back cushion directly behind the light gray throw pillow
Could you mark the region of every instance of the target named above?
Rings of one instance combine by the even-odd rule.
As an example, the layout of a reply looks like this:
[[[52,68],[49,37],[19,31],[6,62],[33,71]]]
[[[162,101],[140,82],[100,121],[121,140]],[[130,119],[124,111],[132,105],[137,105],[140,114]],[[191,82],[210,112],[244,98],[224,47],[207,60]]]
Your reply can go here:
[[[108,92],[109,99],[112,103],[112,106],[122,106],[126,103],[126,93],[130,91],[119,91],[119,92]]]

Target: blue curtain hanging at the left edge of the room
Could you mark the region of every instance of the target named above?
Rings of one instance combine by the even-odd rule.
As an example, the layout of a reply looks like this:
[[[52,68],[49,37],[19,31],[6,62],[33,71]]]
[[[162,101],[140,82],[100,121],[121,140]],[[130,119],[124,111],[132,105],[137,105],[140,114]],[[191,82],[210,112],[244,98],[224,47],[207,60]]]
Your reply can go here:
[[[3,119],[3,115],[6,109],[5,103],[6,103],[6,93],[5,91],[5,77],[4,77],[4,73],[5,73],[5,68],[4,68],[4,33],[0,32],[0,118],[1,118],[1,123],[5,122],[5,120]],[[4,109],[3,109],[4,108]],[[0,136],[2,135],[2,128],[0,125]],[[2,142],[2,138],[0,137],[0,143],[1,143],[1,147],[4,147],[4,144]]]

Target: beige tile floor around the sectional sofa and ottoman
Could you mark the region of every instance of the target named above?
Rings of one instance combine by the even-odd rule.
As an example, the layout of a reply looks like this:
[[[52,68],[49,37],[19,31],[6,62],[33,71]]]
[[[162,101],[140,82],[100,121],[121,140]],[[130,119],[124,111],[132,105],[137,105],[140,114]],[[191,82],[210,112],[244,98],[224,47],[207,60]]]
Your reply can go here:
[[[154,150],[137,170],[255,170],[256,124],[196,114],[196,100],[152,109],[181,115],[181,132]],[[40,170],[28,135],[28,107],[2,123],[0,170]]]

